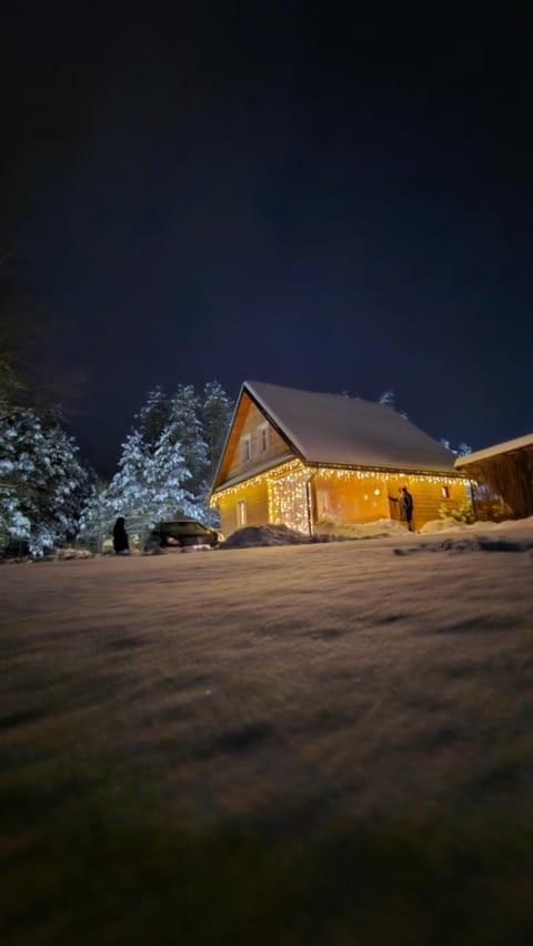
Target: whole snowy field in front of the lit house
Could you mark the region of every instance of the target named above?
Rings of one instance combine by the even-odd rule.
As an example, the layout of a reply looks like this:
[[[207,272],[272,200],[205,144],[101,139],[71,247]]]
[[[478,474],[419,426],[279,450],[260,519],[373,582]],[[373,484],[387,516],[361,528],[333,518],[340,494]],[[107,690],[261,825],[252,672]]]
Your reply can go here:
[[[1,942],[533,942],[533,521],[0,567]]]

